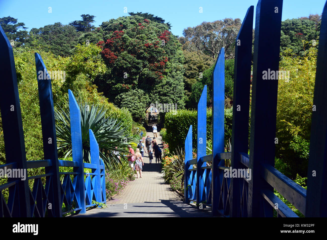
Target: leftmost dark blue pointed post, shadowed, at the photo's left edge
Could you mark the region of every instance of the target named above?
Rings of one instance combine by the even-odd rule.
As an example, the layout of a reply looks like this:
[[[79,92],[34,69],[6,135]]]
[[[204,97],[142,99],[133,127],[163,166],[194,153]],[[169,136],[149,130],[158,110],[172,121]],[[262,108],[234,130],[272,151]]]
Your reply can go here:
[[[6,150],[6,162],[17,163],[17,168],[24,169],[27,176],[26,152],[24,142],[24,131],[22,123],[22,114],[19,102],[19,93],[17,85],[17,75],[15,70],[15,60],[12,47],[9,40],[0,26],[0,108],[2,118],[2,129]],[[9,198],[12,201],[13,217],[30,217],[30,201],[28,180],[16,178],[8,179],[8,182],[19,180],[18,195],[15,198]],[[16,188],[12,186],[10,189]],[[17,190],[17,188],[16,188]],[[18,199],[17,199],[18,198]]]

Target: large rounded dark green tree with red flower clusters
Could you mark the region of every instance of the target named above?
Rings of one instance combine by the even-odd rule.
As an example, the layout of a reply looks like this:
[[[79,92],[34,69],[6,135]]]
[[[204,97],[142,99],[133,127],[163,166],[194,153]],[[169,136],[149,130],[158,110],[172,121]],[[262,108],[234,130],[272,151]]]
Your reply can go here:
[[[151,103],[184,107],[181,44],[166,24],[128,16],[103,22],[94,32],[89,38],[97,40],[107,65],[95,84],[111,102],[128,108],[134,120]]]

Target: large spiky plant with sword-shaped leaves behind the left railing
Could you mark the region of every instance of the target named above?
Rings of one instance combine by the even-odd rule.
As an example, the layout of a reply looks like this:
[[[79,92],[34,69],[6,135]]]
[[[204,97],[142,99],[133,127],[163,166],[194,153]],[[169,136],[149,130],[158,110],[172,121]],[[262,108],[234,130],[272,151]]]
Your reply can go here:
[[[116,119],[105,116],[106,111],[103,107],[98,110],[98,106],[89,106],[88,103],[78,103],[78,105],[81,113],[84,162],[91,163],[89,129],[92,129],[100,148],[100,157],[107,167],[110,165],[115,168],[121,160],[113,154],[113,151],[117,151],[121,159],[125,160],[124,154],[128,153],[126,147],[133,138],[124,133],[126,128],[122,128],[121,122],[117,123]],[[58,149],[63,150],[66,158],[72,153],[70,113],[60,107],[59,109],[55,111],[56,132],[58,142],[60,142]],[[116,146],[117,149],[115,149]]]

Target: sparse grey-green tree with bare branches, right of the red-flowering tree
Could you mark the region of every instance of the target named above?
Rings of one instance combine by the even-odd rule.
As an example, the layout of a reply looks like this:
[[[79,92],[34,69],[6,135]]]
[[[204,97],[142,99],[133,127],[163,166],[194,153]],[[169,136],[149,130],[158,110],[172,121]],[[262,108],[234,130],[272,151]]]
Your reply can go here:
[[[235,40],[241,28],[241,19],[225,18],[215,22],[203,22],[196,27],[183,30],[185,42],[212,56],[214,59],[222,47],[225,47],[225,59],[233,59]]]

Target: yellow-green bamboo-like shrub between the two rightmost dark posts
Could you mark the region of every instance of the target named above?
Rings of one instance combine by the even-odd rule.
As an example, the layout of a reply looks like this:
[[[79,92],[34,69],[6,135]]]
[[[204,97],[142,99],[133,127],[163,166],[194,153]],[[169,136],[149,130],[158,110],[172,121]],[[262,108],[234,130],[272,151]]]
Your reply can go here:
[[[278,81],[276,157],[287,164],[280,171],[291,179],[297,173],[307,176],[317,46],[306,51],[299,57],[286,49],[280,61],[280,70],[289,71],[290,79]]]

